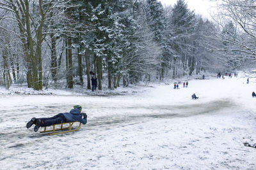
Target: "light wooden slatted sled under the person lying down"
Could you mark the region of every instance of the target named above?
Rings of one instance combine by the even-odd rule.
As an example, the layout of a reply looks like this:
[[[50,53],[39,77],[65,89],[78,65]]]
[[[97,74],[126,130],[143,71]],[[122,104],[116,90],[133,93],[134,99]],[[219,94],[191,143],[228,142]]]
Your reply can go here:
[[[71,129],[72,125],[74,123],[79,123],[79,126],[76,128],[76,129]],[[63,134],[63,133],[67,133],[67,132],[74,132],[74,131],[77,131],[78,129],[80,129],[81,127],[81,122],[65,122],[65,123],[62,123],[62,124],[55,124],[55,125],[52,125],[52,129],[51,130],[47,130],[46,131],[46,127],[44,127],[44,131],[40,131],[40,133],[44,133],[44,132],[52,132],[50,135],[53,135],[53,134]],[[69,124],[68,127],[64,127],[65,124]],[[56,128],[57,127],[60,127],[60,128]],[[61,131],[61,130],[67,130],[67,131]],[[61,132],[56,132],[56,131],[61,131]]]

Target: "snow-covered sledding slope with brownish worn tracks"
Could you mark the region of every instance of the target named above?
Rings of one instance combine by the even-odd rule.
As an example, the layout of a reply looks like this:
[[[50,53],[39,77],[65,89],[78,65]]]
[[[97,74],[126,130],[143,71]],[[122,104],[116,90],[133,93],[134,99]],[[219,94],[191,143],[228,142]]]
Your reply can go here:
[[[256,143],[255,80],[191,80],[180,89],[168,83],[118,96],[2,90],[0,169],[256,169],[256,148],[243,144]],[[26,129],[32,117],[76,104],[88,115],[79,131]]]

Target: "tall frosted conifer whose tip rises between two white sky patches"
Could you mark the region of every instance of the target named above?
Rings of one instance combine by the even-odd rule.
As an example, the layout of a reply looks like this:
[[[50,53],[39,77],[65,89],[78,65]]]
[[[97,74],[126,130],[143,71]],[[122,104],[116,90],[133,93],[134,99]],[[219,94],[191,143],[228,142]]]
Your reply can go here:
[[[188,69],[188,62],[191,62],[190,67],[193,67],[195,63],[192,55],[194,51],[192,35],[196,21],[194,11],[188,9],[184,0],[178,0],[174,5],[171,24],[173,29],[173,50],[175,51],[173,76],[177,74],[178,63],[180,62],[182,64],[182,70],[180,71],[185,75]]]

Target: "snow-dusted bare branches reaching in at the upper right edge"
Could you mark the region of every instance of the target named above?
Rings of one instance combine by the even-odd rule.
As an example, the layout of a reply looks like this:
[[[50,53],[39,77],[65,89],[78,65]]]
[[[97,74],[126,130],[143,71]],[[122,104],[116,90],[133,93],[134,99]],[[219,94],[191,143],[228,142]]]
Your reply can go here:
[[[222,38],[228,42],[228,49],[233,54],[229,57],[236,60],[236,67],[244,69],[255,68],[256,62],[256,1],[254,0],[221,0],[218,4],[219,14],[218,23],[225,30],[225,25],[231,20],[237,27],[237,34],[234,31],[226,31],[225,37]],[[236,34],[237,38],[234,38]]]

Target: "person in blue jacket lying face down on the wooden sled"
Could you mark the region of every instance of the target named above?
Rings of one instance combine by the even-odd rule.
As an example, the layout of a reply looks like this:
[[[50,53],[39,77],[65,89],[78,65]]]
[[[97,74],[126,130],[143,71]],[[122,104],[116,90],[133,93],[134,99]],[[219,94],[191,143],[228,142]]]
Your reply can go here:
[[[35,124],[34,131],[37,132],[39,127],[47,127],[54,124],[62,124],[65,122],[75,122],[79,121],[82,124],[87,123],[87,115],[86,113],[81,113],[82,107],[79,105],[74,106],[74,109],[70,110],[69,113],[59,113],[54,117],[49,118],[31,118],[31,120],[27,123],[27,128],[31,127]],[[82,118],[83,117],[83,118]]]

